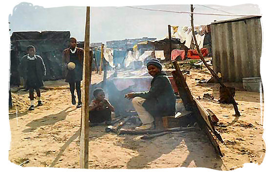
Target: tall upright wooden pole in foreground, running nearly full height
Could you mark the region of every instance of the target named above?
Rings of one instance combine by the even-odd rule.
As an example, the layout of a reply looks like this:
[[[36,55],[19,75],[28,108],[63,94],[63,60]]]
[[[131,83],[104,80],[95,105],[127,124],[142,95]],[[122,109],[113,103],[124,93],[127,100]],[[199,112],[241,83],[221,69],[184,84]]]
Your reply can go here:
[[[90,65],[90,7],[87,6],[85,41],[84,41],[84,61],[83,61],[83,86],[82,108],[81,108],[81,133],[80,133],[80,168],[89,167],[89,92],[91,79]]]

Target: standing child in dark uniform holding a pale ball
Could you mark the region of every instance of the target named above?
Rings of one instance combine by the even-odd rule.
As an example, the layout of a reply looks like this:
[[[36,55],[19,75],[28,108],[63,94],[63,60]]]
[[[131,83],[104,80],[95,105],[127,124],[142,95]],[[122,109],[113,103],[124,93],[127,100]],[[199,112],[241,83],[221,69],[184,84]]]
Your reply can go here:
[[[66,82],[69,83],[72,104],[76,105],[76,88],[78,96],[77,108],[81,108],[80,85],[82,81],[84,50],[77,47],[77,40],[75,38],[70,38],[69,43],[69,48],[63,51],[63,75],[66,77]],[[70,63],[75,64],[75,67],[68,68],[68,64]]]

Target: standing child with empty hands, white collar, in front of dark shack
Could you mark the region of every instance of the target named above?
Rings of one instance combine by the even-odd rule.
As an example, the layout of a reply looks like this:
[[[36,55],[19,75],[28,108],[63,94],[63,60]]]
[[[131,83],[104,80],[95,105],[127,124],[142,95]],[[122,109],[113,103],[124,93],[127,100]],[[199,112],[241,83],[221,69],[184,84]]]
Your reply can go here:
[[[40,87],[44,86],[43,77],[46,75],[46,68],[43,59],[36,55],[33,45],[27,47],[27,55],[22,57],[20,64],[22,77],[26,80],[26,88],[29,89],[31,106],[29,110],[34,110],[34,89],[37,92],[38,105],[42,106]]]

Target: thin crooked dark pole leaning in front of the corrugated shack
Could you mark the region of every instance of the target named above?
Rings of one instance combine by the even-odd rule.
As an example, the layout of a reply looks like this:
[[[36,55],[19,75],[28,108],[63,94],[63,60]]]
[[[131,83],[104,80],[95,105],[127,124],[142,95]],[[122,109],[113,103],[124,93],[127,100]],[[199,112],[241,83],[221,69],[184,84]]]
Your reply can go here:
[[[218,81],[218,83],[225,88],[226,92],[228,93],[229,97],[231,98],[232,100],[232,104],[233,104],[233,108],[234,108],[234,111],[235,111],[235,115],[236,116],[241,116],[240,115],[240,112],[238,110],[238,107],[237,107],[237,103],[235,102],[230,90],[224,85],[224,83],[222,82],[222,80],[218,77],[218,75],[214,72],[213,69],[210,68],[210,66],[208,64],[206,64],[203,56],[202,56],[202,53],[200,51],[200,48],[198,46],[198,43],[197,43],[197,40],[196,40],[196,37],[195,37],[195,32],[194,32],[194,24],[193,24],[193,5],[191,5],[191,27],[192,27],[192,35],[193,35],[193,40],[194,40],[194,43],[195,43],[195,46],[196,46],[196,49],[197,49],[197,52],[202,60],[202,63],[207,67],[207,69],[210,71],[210,73],[213,75],[214,78],[216,78],[216,80]]]

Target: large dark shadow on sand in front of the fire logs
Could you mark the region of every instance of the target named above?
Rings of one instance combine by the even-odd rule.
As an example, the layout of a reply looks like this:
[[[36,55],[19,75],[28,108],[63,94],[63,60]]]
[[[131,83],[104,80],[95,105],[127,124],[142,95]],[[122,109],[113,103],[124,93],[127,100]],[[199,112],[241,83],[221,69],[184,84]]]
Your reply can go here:
[[[161,137],[165,138],[161,139],[160,137],[156,137],[150,140],[138,140],[137,143],[135,143],[134,140],[130,140],[128,137],[124,137],[125,139],[122,146],[126,149],[138,151],[139,153],[139,155],[130,159],[127,163],[127,168],[149,168],[149,164],[151,164],[152,161],[157,160],[163,155],[165,156],[165,154],[172,152],[176,148],[180,149],[183,145],[186,145],[188,155],[181,163],[178,162],[178,164],[181,165],[177,167],[188,167],[191,162],[194,162],[197,167],[221,170],[223,161],[217,156],[213,146],[202,131],[167,134]],[[183,142],[184,144],[182,144]],[[186,152],[182,152],[182,154],[186,154]],[[174,154],[174,158],[181,158],[181,154]],[[162,161],[162,158],[158,159],[158,161]],[[167,164],[164,168],[169,168],[170,164],[174,165],[169,159],[161,163]]]

